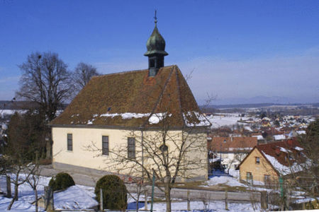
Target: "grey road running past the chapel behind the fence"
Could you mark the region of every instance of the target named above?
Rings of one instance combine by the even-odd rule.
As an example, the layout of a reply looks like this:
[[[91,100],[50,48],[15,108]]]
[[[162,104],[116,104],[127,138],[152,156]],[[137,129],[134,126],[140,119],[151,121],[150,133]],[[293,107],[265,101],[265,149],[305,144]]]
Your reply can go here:
[[[62,172],[65,170],[55,170],[50,165],[42,166],[40,174],[45,177],[52,177],[56,175],[58,172]],[[75,172],[68,172],[74,179],[76,184],[81,184],[89,187],[95,187],[96,182],[102,176],[89,176],[83,175]],[[136,193],[136,184],[127,184],[128,192]],[[151,194],[151,187],[147,186],[148,195]],[[225,192],[213,191],[207,189],[172,189],[171,197],[174,199],[187,199],[187,191],[189,191],[189,199],[192,201],[201,201],[202,199],[210,200],[210,201],[224,201],[225,200]],[[157,187],[155,187],[155,196],[164,197],[164,193],[161,192]],[[260,193],[254,192],[228,192],[228,201],[260,201]]]

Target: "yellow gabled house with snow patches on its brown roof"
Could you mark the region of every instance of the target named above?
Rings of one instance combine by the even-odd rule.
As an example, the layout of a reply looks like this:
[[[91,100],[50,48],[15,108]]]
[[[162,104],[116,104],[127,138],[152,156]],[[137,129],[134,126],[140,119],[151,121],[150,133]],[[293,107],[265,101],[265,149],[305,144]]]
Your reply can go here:
[[[278,182],[279,177],[289,177],[291,173],[301,171],[296,158],[303,155],[302,151],[295,140],[255,146],[237,166],[240,179],[254,184]]]

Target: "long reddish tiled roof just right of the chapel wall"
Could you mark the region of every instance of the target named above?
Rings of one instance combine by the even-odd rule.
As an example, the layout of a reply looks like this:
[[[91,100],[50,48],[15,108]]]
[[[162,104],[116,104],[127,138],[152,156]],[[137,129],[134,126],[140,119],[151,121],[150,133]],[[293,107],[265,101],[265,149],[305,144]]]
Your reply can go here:
[[[213,137],[211,141],[212,151],[249,152],[257,146],[257,137]]]

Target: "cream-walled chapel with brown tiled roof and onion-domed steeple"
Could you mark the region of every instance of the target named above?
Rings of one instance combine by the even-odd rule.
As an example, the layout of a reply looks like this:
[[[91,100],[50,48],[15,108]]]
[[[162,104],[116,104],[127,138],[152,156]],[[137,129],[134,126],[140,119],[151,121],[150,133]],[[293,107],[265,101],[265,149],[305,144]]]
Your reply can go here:
[[[121,154],[151,168],[155,164],[149,160],[152,153],[147,145],[174,155],[182,139],[192,137],[187,142],[197,148],[183,155],[184,170],[179,180],[208,178],[206,131],[211,123],[201,114],[179,67],[164,66],[164,49],[165,41],[155,22],[145,53],[148,69],[91,78],[50,123],[54,168],[140,177],[142,170],[136,164],[116,161],[120,154],[115,153],[116,148],[124,147]],[[161,145],[160,136],[152,145],[147,143],[164,130],[168,132],[164,146],[157,146]],[[191,160],[196,165],[189,163]]]

